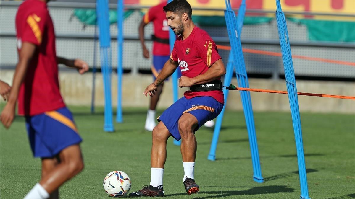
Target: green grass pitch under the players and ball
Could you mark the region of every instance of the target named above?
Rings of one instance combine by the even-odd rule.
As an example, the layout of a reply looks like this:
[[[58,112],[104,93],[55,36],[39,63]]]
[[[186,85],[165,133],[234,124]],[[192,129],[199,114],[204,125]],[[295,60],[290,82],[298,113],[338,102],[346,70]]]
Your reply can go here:
[[[2,104],[1,108],[4,106]],[[109,198],[103,178],[122,170],[131,191],[149,184],[151,133],[143,130],[146,110],[124,109],[116,132],[103,132],[102,109],[70,107],[80,134],[84,171],[60,188],[61,198]],[[252,180],[249,141],[242,112],[226,111],[217,161],[207,160],[213,129],[197,133],[195,178],[200,193],[187,195],[182,185],[180,148],[168,141],[164,191],[168,198],[299,198],[296,147],[290,113],[256,112],[262,184]],[[355,115],[301,113],[310,197],[355,198]],[[24,118],[10,130],[0,127],[0,198],[23,198],[40,178],[40,160],[28,144]]]

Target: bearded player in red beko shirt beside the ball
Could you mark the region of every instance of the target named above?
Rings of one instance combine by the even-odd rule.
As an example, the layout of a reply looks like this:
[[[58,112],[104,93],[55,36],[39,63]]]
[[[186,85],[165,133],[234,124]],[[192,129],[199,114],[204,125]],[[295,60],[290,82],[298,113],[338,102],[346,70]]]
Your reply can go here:
[[[158,118],[159,123],[152,132],[150,185],[130,193],[131,196],[164,196],[166,141],[170,136],[176,140],[181,138],[185,191],[188,194],[198,192],[200,187],[194,177],[197,148],[195,132],[206,121],[216,118],[224,104],[220,78],[225,74],[225,68],[214,41],[192,22],[192,9],[186,0],[174,0],[164,6],[164,11],[169,27],[175,34],[181,35],[175,41],[169,61],[143,94],[154,95],[176,68],[182,72],[179,86],[190,87],[190,91],[186,91],[184,97]]]

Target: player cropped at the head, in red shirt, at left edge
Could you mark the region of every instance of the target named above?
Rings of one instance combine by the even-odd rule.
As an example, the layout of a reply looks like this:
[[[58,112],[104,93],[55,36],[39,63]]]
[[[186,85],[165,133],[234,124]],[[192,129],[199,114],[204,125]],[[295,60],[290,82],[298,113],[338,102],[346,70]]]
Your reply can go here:
[[[18,114],[34,157],[42,159],[42,176],[25,199],[58,198],[58,188],[83,169],[82,141],[71,112],[59,92],[58,64],[88,70],[86,62],[56,56],[55,34],[47,9],[49,0],[26,0],[16,14],[18,63],[0,120],[6,128]]]

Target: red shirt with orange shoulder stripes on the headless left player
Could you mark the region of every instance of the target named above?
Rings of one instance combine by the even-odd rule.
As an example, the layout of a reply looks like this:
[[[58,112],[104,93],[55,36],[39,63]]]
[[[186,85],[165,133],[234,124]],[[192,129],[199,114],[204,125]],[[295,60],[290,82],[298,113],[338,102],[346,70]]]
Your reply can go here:
[[[18,95],[18,114],[37,115],[65,107],[59,92],[55,34],[47,4],[26,0],[16,14],[17,50],[23,42],[37,46]]]

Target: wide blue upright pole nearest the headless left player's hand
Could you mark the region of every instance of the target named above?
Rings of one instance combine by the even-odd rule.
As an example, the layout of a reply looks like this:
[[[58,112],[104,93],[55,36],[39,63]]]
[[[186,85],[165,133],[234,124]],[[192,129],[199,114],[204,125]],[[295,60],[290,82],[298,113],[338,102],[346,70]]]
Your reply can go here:
[[[109,8],[108,2],[106,0],[97,0],[96,13],[100,30],[100,59],[105,95],[104,131],[112,132],[114,131],[114,129],[111,105],[111,38],[109,24]]]

